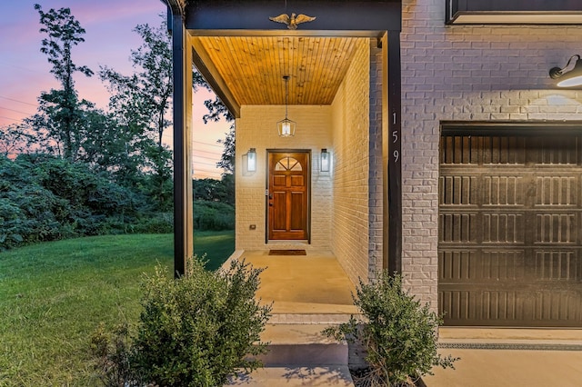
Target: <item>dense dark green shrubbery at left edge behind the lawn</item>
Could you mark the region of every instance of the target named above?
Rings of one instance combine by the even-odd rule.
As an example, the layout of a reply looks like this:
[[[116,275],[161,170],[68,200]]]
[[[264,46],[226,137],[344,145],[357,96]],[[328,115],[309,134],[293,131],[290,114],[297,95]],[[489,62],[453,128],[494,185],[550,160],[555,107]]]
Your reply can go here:
[[[140,200],[88,164],[46,154],[20,154],[14,161],[0,156],[0,250],[124,233],[135,223]]]

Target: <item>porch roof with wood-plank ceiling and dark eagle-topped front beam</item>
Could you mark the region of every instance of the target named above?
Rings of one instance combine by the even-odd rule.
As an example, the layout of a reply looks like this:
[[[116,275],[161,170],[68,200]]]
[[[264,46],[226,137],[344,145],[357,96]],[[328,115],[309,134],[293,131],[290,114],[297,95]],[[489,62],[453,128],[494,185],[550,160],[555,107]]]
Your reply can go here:
[[[401,1],[202,0],[184,21],[193,60],[235,116],[244,104],[331,104],[358,42],[401,29]],[[355,10],[357,15],[355,15]],[[315,16],[289,29],[269,19]]]

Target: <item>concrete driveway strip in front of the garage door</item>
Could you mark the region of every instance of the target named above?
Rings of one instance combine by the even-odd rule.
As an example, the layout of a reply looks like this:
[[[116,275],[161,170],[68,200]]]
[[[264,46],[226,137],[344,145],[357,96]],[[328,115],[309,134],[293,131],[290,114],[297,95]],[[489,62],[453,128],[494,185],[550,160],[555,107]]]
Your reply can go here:
[[[439,344],[461,360],[426,387],[582,386],[582,330],[441,328]]]

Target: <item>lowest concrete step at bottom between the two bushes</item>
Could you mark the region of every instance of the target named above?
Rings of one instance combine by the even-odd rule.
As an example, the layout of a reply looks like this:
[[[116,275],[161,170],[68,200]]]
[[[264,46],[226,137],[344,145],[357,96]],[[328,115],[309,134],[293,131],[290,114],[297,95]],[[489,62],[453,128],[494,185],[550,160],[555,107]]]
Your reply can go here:
[[[248,376],[232,380],[228,385],[246,387],[337,386],[354,387],[347,366],[281,366],[265,367]]]

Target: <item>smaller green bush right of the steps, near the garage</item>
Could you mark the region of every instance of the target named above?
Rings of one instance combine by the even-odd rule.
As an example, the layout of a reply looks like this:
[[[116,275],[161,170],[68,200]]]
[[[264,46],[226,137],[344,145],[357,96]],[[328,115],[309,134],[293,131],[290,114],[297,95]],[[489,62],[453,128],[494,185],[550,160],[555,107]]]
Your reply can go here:
[[[428,305],[421,305],[402,289],[402,277],[381,273],[376,283],[360,280],[354,303],[362,320],[324,331],[338,340],[357,342],[366,350],[365,370],[359,384],[366,386],[414,385],[412,379],[430,373],[434,365],[453,367],[457,359],[437,353],[441,320]]]

